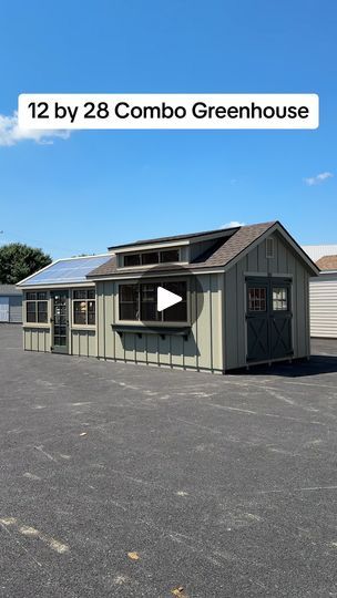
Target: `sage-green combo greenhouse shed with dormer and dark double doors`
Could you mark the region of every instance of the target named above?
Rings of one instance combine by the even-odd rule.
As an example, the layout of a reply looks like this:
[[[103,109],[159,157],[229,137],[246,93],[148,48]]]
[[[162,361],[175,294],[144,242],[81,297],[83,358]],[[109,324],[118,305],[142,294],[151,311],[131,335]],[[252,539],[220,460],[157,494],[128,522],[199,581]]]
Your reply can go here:
[[[23,346],[218,373],[305,358],[318,272],[278,221],[60,259],[19,283]],[[160,310],[160,290],[175,305]]]

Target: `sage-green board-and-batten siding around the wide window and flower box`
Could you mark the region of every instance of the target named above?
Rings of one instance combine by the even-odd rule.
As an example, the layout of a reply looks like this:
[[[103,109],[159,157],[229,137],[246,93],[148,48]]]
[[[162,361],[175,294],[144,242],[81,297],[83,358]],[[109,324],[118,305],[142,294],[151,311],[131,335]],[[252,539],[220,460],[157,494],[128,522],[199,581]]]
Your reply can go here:
[[[172,368],[191,368],[201,370],[223,370],[223,330],[222,330],[222,280],[221,275],[200,275],[202,288],[196,292],[195,279],[192,279],[190,292],[190,310],[197,311],[203,299],[203,309],[191,333],[183,337],[165,334],[161,328],[156,334],[146,333],[140,337],[126,332],[120,337],[112,329],[118,317],[118,283],[114,281],[98,282],[98,347],[99,357],[116,361],[134,361]],[[165,334],[162,338],[162,334]]]

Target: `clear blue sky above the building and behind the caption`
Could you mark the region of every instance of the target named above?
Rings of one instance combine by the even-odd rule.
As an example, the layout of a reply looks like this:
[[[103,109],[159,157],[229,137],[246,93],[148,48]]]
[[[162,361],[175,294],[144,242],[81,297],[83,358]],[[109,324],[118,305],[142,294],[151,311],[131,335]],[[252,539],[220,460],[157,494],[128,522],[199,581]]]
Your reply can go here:
[[[41,144],[0,117],[0,243],[62,257],[269,219],[300,243],[337,243],[335,2],[19,0],[1,16],[2,117],[23,92],[318,93],[320,127]]]

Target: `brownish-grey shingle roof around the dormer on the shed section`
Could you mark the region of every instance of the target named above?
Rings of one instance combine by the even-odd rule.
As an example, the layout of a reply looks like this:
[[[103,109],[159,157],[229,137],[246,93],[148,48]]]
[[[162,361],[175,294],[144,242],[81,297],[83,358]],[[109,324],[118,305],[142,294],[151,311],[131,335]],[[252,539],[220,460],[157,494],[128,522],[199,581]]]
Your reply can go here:
[[[256,225],[249,225],[249,226],[242,226],[239,228],[234,228],[231,236],[228,236],[229,229],[224,229],[223,231],[223,239],[216,241],[215,240],[215,249],[213,251],[207,251],[204,254],[204,256],[201,256],[196,260],[192,261],[190,264],[190,267],[193,266],[193,268],[205,268],[205,267],[224,267],[229,261],[232,261],[234,258],[236,258],[241,252],[243,252],[252,243],[254,243],[256,239],[258,239],[264,233],[266,233],[269,228],[272,228],[276,221],[270,223],[262,223]],[[207,233],[208,235],[212,233],[218,233],[218,230],[213,230]],[[197,237],[202,234],[193,234],[193,235],[185,235],[181,238],[193,238]],[[176,237],[164,237],[162,239],[155,239],[156,243],[160,243],[161,240],[173,240]],[[144,241],[142,241],[143,244]],[[151,243],[151,241],[147,241]],[[137,244],[134,244],[135,246]],[[130,246],[127,246],[130,247]],[[174,270],[174,266],[162,266],[162,268],[156,267],[156,271],[160,270]],[[181,268],[181,266],[178,267]],[[119,270],[119,274],[136,274],[149,270],[149,267],[145,268],[123,268],[123,271]],[[99,268],[95,268],[92,270],[88,278],[100,278],[101,276],[112,276],[118,272],[116,268],[116,258],[113,256],[109,261],[103,264],[102,266],[99,266]]]

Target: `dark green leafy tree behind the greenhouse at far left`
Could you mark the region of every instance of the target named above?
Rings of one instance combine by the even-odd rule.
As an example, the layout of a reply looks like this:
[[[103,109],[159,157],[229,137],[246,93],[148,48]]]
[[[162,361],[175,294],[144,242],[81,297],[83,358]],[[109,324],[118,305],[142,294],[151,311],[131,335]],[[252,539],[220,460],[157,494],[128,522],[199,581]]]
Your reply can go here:
[[[11,243],[0,247],[0,283],[16,285],[44,266],[51,257],[35,247],[22,243]]]

